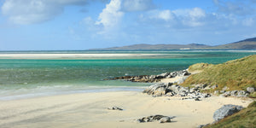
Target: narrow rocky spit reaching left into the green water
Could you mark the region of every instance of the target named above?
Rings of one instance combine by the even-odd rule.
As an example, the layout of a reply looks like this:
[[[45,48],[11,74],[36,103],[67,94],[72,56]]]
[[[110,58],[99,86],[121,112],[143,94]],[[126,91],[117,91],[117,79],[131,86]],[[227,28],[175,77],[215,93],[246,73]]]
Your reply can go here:
[[[161,79],[171,79],[175,77],[186,77],[189,76],[189,72],[187,70],[176,71],[172,73],[161,73],[159,75],[141,75],[141,76],[122,76],[113,79],[104,79],[104,80],[114,80],[114,79],[125,79],[131,82],[144,82],[144,83],[153,83],[159,82]],[[185,79],[185,78],[184,78]],[[180,79],[182,83],[184,79]],[[178,81],[177,81],[178,82]]]

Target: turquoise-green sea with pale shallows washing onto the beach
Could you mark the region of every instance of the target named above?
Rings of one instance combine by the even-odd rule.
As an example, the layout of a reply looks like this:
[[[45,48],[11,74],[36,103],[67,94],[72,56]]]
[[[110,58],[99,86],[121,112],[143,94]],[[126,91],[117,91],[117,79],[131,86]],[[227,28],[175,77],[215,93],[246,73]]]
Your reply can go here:
[[[256,55],[256,50],[0,51],[0,55],[9,54],[102,56],[49,59],[0,57],[0,100],[102,91],[141,91],[150,84],[103,79],[173,72],[201,62],[219,64]]]

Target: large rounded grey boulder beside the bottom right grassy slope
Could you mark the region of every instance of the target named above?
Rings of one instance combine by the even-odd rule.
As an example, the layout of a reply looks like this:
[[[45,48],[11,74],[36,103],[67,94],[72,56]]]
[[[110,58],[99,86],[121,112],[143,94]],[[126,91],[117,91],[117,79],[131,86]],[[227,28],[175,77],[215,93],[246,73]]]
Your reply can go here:
[[[241,106],[236,105],[224,105],[213,113],[213,119],[218,121],[220,119],[224,119],[224,117],[230,116],[233,113],[237,113],[242,109]]]

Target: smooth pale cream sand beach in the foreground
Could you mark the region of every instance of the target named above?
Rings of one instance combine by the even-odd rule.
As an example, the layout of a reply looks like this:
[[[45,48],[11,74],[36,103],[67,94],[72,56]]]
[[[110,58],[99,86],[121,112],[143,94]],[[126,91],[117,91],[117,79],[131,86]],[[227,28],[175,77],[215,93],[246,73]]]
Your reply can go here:
[[[203,101],[181,97],[153,97],[136,91],[94,92],[0,101],[0,127],[174,127],[189,128],[211,123],[224,104],[247,107],[250,100],[212,96]],[[108,110],[117,106],[124,111]],[[176,116],[172,123],[137,123],[152,114]]]

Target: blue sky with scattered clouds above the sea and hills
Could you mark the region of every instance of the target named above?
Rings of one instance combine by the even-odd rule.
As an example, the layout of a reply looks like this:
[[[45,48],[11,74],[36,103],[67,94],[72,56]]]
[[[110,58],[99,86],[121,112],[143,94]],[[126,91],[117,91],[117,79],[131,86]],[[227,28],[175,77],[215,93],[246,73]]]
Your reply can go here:
[[[256,0],[0,0],[0,50],[218,45],[256,37]]]

